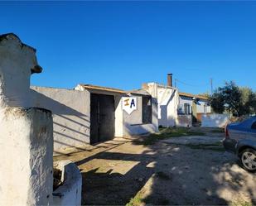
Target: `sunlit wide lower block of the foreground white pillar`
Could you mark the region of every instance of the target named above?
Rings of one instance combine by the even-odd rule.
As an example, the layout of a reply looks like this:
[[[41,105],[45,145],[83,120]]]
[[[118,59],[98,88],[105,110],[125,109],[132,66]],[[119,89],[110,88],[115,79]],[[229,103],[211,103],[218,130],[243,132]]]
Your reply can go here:
[[[0,205],[51,203],[51,112],[38,108],[3,109],[0,130]]]

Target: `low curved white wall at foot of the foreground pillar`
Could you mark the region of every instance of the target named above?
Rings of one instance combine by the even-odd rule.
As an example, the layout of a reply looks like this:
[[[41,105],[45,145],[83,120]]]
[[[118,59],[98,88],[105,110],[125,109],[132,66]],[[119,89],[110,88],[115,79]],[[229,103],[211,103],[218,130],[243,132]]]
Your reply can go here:
[[[78,167],[70,160],[56,161],[54,166],[61,170],[61,181],[65,180],[65,182],[53,192],[53,205],[81,205],[82,175]]]

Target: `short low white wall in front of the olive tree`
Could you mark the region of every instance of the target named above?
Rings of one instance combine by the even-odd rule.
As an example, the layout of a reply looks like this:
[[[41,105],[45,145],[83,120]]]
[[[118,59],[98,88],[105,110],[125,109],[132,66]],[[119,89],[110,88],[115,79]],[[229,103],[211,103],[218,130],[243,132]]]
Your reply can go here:
[[[225,127],[228,122],[229,116],[226,114],[204,114],[201,127]]]

